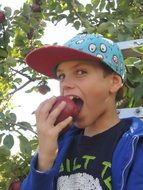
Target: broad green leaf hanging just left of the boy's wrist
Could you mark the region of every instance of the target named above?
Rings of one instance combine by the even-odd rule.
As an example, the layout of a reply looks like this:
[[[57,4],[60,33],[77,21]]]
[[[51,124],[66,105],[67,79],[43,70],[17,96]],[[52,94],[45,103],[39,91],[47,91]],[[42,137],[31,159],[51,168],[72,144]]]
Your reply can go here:
[[[28,139],[24,136],[19,136],[19,140],[20,140],[20,151],[22,152],[22,154],[28,154],[28,155],[31,154],[32,148]]]

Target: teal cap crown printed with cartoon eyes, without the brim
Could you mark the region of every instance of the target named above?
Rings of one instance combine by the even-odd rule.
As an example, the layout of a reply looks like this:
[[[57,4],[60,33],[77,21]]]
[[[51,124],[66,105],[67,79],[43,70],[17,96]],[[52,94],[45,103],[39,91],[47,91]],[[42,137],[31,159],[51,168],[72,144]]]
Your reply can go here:
[[[122,79],[125,78],[126,69],[122,52],[117,43],[112,40],[100,34],[82,33],[67,41],[64,46],[99,57],[104,64],[118,73]]]

